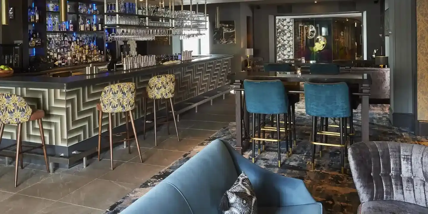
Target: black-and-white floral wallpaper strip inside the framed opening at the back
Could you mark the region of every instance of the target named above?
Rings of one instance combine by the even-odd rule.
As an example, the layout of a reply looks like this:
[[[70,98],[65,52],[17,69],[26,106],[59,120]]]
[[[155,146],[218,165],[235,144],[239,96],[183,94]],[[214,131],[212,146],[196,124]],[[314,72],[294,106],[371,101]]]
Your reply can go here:
[[[276,61],[293,59],[293,19],[276,19]]]

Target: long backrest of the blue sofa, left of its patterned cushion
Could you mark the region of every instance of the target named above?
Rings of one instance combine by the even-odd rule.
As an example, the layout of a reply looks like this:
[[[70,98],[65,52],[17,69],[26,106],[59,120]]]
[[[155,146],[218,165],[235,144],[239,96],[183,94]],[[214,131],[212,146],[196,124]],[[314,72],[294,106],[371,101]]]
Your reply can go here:
[[[121,214],[220,214],[220,199],[236,178],[228,149],[214,140]]]

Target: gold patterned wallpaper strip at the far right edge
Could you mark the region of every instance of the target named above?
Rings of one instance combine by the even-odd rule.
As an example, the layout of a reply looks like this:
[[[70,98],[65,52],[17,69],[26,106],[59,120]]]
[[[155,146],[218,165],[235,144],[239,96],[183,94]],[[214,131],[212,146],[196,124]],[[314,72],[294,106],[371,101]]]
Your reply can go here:
[[[428,1],[416,0],[418,120],[428,121]]]

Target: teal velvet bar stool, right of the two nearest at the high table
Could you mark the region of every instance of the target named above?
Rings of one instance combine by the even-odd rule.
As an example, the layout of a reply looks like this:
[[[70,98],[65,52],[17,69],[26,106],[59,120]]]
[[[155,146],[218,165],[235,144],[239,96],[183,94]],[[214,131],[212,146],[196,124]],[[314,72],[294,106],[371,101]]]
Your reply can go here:
[[[315,169],[315,149],[320,146],[340,147],[340,159],[342,173],[345,169],[346,153],[346,118],[351,116],[351,104],[349,102],[348,85],[341,83],[305,83],[305,108],[306,113],[312,116],[312,169]],[[339,118],[339,133],[318,131],[317,118]],[[340,144],[321,143],[316,141],[320,134],[340,137]],[[322,138],[322,137],[321,137]]]

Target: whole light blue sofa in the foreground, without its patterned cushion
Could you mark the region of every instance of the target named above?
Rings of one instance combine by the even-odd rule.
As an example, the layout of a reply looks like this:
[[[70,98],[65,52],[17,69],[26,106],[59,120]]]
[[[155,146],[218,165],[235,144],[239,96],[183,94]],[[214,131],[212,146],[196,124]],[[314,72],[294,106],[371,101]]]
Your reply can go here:
[[[259,214],[322,213],[302,180],[263,169],[217,139],[121,214],[221,214],[220,199],[242,171],[253,184]]]

